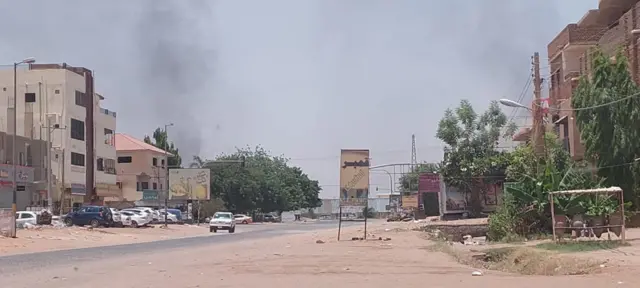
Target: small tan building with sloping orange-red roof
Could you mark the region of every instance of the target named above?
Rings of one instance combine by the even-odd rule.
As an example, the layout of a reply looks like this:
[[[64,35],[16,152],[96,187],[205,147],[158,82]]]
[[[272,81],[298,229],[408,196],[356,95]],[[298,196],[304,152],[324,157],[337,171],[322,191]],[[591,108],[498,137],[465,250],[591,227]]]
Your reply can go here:
[[[161,192],[167,189],[166,157],[172,154],[121,133],[116,134],[116,153],[122,197],[114,201],[157,202],[162,198]]]

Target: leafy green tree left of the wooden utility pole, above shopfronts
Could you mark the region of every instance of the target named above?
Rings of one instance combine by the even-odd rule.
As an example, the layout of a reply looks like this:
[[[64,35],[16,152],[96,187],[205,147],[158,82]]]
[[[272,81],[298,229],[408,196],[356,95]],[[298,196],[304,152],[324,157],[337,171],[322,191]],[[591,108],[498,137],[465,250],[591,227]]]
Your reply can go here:
[[[507,117],[496,101],[478,115],[471,103],[462,100],[455,111],[447,109],[438,123],[436,137],[445,148],[441,174],[445,183],[470,195],[471,212],[482,211],[482,191],[486,183],[502,181],[508,154],[497,150]],[[506,128],[506,127],[505,127]]]

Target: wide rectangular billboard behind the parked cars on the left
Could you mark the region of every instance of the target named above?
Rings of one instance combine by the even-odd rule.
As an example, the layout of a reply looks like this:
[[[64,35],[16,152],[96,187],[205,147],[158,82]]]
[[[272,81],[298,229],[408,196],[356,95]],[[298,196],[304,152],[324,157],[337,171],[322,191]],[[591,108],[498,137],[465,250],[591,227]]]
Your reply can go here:
[[[209,169],[170,169],[169,199],[209,200],[211,171]]]

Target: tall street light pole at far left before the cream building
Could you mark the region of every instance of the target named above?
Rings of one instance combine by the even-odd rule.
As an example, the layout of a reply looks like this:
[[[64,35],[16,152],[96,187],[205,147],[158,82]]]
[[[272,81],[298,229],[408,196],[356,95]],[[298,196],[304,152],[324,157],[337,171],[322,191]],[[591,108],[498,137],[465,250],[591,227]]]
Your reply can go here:
[[[18,166],[16,165],[16,138],[18,138],[18,66],[21,64],[31,64],[36,62],[33,57],[25,58],[20,62],[13,63],[13,139],[11,147],[11,166],[13,168],[13,201],[11,211],[13,212],[13,226],[11,227],[11,237],[16,237],[16,211],[18,210]]]

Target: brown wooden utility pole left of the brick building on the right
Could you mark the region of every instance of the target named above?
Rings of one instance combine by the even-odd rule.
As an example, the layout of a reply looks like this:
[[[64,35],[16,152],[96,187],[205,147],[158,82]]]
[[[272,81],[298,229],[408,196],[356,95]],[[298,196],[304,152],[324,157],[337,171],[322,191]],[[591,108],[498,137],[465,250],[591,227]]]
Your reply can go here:
[[[532,140],[534,151],[538,155],[544,154],[544,114],[542,111],[541,91],[542,79],[540,79],[540,54],[533,54],[533,133]]]

